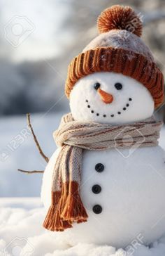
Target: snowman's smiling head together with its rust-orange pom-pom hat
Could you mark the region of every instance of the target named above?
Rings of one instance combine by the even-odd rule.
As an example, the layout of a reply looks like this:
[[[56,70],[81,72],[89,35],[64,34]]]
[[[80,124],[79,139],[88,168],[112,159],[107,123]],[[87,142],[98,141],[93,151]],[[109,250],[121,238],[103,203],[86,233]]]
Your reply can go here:
[[[69,65],[66,96],[75,120],[127,123],[150,117],[164,99],[164,79],[127,6],[99,16],[99,36]]]

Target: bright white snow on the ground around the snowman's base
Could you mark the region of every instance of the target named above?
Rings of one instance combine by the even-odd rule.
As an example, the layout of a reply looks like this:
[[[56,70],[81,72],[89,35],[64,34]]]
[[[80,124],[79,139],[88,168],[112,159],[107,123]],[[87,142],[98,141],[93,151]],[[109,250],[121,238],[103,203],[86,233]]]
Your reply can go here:
[[[149,247],[132,243],[127,249],[79,243],[70,247],[62,233],[42,227],[45,210],[39,198],[1,198],[1,256],[164,256],[165,237]]]

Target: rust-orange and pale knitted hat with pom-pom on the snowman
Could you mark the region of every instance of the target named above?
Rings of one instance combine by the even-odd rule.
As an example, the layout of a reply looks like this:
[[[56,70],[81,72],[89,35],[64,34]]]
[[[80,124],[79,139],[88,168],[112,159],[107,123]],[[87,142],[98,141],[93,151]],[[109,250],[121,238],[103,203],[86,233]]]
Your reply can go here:
[[[94,72],[117,72],[141,82],[157,108],[164,100],[164,78],[141,40],[141,19],[129,6],[112,6],[97,20],[99,36],[69,65],[65,92],[69,98],[78,79]]]

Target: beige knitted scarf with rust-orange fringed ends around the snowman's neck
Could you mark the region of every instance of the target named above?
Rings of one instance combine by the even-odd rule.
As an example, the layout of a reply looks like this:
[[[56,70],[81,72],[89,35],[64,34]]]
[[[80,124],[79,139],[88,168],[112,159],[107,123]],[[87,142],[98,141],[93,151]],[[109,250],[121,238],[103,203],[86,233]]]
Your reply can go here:
[[[134,124],[100,124],[78,122],[71,113],[62,117],[53,136],[61,151],[52,175],[52,204],[43,226],[64,231],[73,222],[87,222],[87,212],[80,198],[83,149],[102,151],[108,148],[156,146],[161,121],[154,117]]]

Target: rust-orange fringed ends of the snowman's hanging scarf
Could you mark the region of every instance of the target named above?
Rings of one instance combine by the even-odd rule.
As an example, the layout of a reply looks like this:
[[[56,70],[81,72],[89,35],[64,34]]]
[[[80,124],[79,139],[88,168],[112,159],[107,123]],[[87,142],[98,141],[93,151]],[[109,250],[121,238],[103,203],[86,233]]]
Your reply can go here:
[[[69,187],[67,196],[66,189]],[[72,228],[73,222],[87,222],[87,212],[78,192],[78,182],[63,184],[62,192],[52,192],[52,205],[45,217],[43,226],[50,231],[64,231]]]

